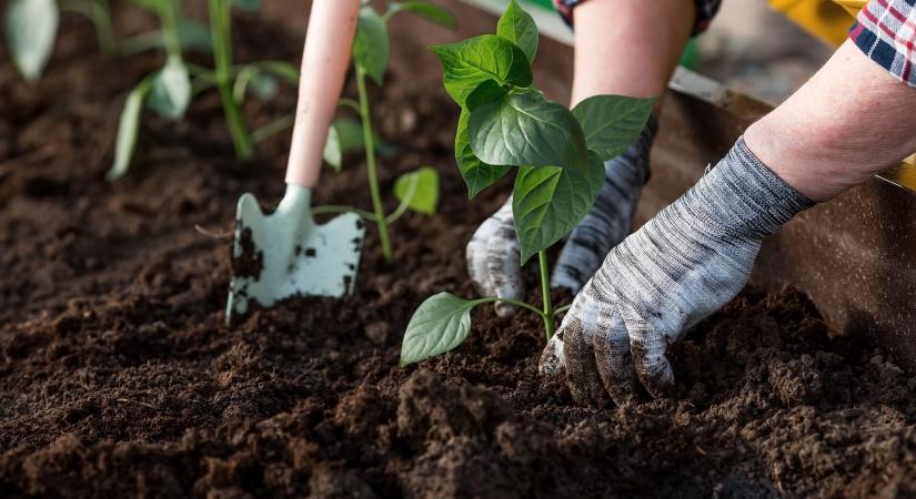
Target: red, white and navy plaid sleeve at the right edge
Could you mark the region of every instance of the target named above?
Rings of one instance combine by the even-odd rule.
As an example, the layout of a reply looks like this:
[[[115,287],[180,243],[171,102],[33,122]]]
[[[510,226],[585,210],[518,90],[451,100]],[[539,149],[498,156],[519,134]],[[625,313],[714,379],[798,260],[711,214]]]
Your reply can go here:
[[[895,78],[916,86],[916,0],[870,0],[849,39]]]

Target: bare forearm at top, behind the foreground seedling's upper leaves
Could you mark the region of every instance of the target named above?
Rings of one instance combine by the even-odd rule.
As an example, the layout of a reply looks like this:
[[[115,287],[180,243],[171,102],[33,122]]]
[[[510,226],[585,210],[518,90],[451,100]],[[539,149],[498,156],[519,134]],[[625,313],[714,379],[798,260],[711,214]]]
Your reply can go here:
[[[575,10],[572,105],[662,95],[696,18],[692,0],[590,0]]]

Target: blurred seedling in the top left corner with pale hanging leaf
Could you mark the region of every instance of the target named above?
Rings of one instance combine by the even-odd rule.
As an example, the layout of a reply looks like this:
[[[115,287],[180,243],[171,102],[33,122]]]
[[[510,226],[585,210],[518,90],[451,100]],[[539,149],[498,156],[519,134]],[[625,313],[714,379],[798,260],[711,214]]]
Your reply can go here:
[[[51,57],[61,11],[88,17],[95,27],[99,49],[105,54],[115,51],[109,0],[12,0],[3,22],[7,47],[16,68],[29,82],[41,78]]]

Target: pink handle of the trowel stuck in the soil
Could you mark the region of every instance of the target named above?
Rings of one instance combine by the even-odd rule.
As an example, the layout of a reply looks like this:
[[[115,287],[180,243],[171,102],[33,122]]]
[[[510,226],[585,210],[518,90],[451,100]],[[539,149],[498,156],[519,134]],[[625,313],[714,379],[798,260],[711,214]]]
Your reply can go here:
[[[314,0],[302,55],[286,183],[314,187],[350,62],[360,0]]]

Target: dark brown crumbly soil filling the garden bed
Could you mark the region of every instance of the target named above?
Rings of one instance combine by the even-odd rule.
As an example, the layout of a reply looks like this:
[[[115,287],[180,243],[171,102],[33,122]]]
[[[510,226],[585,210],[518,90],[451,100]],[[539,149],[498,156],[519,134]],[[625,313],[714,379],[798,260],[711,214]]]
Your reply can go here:
[[[145,22],[132,16],[119,26]],[[236,20],[240,60],[298,60],[298,35]],[[456,352],[397,368],[424,297],[473,294],[463,246],[509,191],[467,203],[455,114],[410,61],[375,95],[400,147],[383,182],[439,167],[436,220],[394,227],[392,268],[370,231],[352,297],[291,301],[230,329],[228,240],[194,226],[230,230],[244,191],[275,203],[285,136],[234,161],[209,95],[183,123],[147,120],[141,167],[109,185],[122,99],[158,55],[105,61],[67,17],[39,85],[0,53],[0,496],[916,495],[916,378],[832,335],[792,289],[746,292],[674,346],[671,399],[575,407],[536,374],[538,319],[490,309]],[[294,94],[250,105],[249,122]],[[348,160],[319,202],[368,205]]]

